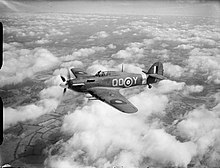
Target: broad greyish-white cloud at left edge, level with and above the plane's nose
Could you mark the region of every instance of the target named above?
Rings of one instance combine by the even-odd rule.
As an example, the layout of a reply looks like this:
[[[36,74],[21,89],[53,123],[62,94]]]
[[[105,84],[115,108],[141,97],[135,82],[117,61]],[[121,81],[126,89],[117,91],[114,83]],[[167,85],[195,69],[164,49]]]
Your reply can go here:
[[[18,49],[14,44],[5,45],[3,61],[0,87],[33,78],[36,73],[49,70],[59,63],[58,58],[47,49]]]

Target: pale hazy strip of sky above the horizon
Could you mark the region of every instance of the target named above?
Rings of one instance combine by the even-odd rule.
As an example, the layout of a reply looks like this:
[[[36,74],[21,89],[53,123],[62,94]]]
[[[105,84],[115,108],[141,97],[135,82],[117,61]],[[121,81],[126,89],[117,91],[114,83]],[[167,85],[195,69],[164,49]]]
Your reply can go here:
[[[218,1],[7,1],[5,12],[67,12],[130,15],[181,15],[219,17]],[[5,8],[6,7],[6,8]]]

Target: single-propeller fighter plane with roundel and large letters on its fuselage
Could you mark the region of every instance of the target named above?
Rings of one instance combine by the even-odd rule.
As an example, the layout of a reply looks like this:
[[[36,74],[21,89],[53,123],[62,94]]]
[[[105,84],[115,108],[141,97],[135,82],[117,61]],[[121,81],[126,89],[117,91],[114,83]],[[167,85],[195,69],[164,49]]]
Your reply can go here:
[[[70,69],[75,78],[71,78],[68,71],[67,79],[60,76],[63,83],[64,94],[68,89],[76,92],[89,93],[92,97],[101,100],[124,113],[135,113],[138,109],[119,93],[120,88],[129,88],[138,85],[147,85],[157,83],[165,79],[163,76],[163,64],[154,63],[146,72],[142,70],[141,74],[128,73],[122,71],[98,71],[95,75],[90,75],[80,68]]]

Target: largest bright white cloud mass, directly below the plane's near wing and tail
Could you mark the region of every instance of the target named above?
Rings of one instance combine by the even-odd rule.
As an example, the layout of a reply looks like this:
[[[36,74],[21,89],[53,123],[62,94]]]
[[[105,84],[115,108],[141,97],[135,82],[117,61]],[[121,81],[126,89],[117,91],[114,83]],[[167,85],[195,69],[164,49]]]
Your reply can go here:
[[[58,142],[48,151],[45,165],[141,168],[153,163],[186,167],[196,154],[194,143],[178,141],[165,132],[161,121],[148,118],[153,113],[160,116],[165,113],[169,98],[168,91],[162,92],[164,85],[172,88],[169,93],[180,87],[170,81],[161,83],[157,89],[145,88],[131,94],[129,100],[139,109],[133,115],[121,113],[101,101],[88,102],[66,115],[61,130],[70,139]],[[51,153],[54,150],[57,153]]]

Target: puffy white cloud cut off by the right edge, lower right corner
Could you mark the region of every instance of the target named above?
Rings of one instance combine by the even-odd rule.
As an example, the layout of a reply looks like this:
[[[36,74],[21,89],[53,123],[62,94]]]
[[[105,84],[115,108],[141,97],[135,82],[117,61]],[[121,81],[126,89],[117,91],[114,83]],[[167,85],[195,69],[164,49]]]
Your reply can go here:
[[[206,158],[204,162],[208,167],[216,167],[220,162],[219,105],[220,102],[212,109],[200,106],[190,111],[177,125],[179,136],[196,145],[197,155]]]

